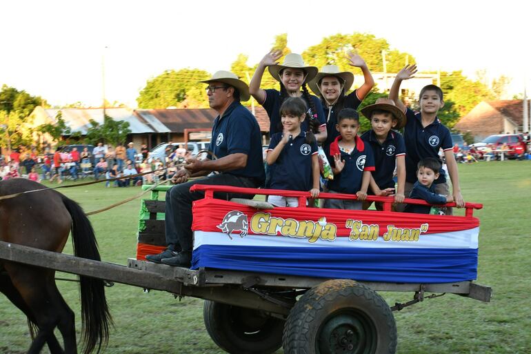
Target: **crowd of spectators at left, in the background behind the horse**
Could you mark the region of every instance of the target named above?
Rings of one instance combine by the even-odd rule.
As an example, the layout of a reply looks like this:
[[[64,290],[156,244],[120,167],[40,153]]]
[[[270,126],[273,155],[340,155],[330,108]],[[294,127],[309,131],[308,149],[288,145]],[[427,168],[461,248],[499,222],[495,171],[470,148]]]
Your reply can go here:
[[[38,153],[35,146],[19,146],[7,156],[0,155],[0,179],[26,177],[61,184],[65,179],[77,181],[88,176],[96,180],[128,177],[107,181],[106,186],[140,186],[170,179],[177,172],[177,165],[190,156],[182,145],[168,144],[166,157],[148,160],[148,146],[142,144],[137,150],[132,142],[127,148],[122,144],[113,148],[98,143],[92,152],[87,147],[82,151],[76,147],[52,150],[49,146],[42,150]],[[137,176],[140,173],[147,174]]]

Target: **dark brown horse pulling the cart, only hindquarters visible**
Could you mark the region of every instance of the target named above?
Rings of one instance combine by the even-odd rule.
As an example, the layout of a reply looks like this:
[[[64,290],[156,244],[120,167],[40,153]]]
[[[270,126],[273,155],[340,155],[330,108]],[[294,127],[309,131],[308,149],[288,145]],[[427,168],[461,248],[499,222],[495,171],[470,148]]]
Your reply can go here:
[[[0,181],[0,196],[46,188],[28,179]],[[55,190],[0,200],[0,240],[61,252],[72,231],[74,255],[100,260],[94,230],[83,209]],[[0,259],[0,291],[28,317],[33,342],[28,353],[48,344],[50,353],[77,353],[74,313],[54,279],[55,271]],[[106,346],[112,322],[103,280],[79,277],[84,353]],[[57,327],[63,348],[54,335]]]

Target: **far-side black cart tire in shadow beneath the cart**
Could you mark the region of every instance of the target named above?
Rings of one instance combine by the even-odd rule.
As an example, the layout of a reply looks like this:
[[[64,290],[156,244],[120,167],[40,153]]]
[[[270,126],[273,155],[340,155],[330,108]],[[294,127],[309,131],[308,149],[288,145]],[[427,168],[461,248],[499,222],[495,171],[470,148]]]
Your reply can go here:
[[[262,311],[205,300],[206,330],[231,354],[270,354],[282,346],[283,319]]]

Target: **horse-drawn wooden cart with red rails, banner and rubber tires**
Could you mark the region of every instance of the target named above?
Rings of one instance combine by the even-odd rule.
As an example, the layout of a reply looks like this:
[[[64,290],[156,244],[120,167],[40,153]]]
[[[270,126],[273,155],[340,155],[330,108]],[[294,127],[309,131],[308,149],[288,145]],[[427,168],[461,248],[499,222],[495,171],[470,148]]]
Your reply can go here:
[[[145,262],[165,246],[159,187],[142,201],[137,259],[128,266],[0,242],[0,259],[206,299],[205,325],[229,353],[395,353],[392,311],[428,293],[489,302],[491,289],[474,283],[477,204],[465,216],[408,215],[306,208],[214,199],[215,192],[277,194],[226,186],[194,186],[192,269]],[[332,197],[323,193],[322,197]],[[351,198],[348,195],[333,197]],[[421,201],[417,201],[422,203]],[[446,246],[445,243],[446,242]],[[414,293],[390,307],[377,291]]]

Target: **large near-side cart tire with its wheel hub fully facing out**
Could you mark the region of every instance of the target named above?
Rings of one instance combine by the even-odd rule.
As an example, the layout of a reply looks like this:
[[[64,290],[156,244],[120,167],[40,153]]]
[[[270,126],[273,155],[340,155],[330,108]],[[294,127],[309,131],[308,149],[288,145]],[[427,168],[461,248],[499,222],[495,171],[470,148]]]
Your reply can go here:
[[[380,295],[348,279],[323,282],[290,311],[285,354],[394,354],[397,325]]]

